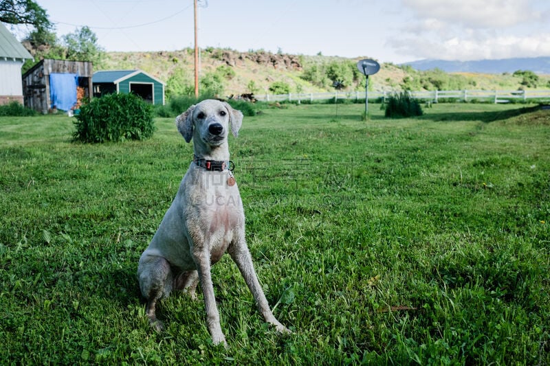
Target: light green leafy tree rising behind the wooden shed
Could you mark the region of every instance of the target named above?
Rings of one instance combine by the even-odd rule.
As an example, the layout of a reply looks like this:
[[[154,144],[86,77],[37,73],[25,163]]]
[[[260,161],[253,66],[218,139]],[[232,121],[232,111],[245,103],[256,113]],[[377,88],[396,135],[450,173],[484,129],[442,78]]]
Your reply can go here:
[[[101,62],[103,49],[98,45],[98,36],[89,27],[66,34],[63,43],[67,47],[67,60]]]

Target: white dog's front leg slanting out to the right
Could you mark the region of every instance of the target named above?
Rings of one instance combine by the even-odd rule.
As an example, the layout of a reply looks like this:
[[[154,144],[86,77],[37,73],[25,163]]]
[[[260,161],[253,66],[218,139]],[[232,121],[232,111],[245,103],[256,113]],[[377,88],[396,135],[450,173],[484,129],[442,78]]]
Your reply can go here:
[[[263,293],[258,280],[258,275],[256,275],[256,271],[254,270],[252,256],[250,255],[250,251],[248,251],[248,247],[244,241],[245,239],[241,238],[240,240],[240,242],[237,242],[230,247],[229,254],[231,255],[232,260],[236,263],[236,266],[239,267],[239,271],[241,271],[241,275],[245,279],[248,288],[250,288],[250,292],[252,292],[252,296],[254,297],[254,301],[256,301],[258,310],[261,312],[263,319],[265,319],[267,323],[274,325],[278,332],[291,333],[285,325],[281,324],[274,317],[272,311],[270,310],[270,305],[267,303],[267,299],[265,298],[265,294]]]

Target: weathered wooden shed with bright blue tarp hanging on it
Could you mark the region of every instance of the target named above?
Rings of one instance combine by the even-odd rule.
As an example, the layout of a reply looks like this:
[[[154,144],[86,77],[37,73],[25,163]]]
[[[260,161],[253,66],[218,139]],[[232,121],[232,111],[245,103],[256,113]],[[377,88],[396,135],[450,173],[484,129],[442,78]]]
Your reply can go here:
[[[42,113],[78,108],[92,96],[92,75],[91,62],[41,60],[23,75],[25,106]]]

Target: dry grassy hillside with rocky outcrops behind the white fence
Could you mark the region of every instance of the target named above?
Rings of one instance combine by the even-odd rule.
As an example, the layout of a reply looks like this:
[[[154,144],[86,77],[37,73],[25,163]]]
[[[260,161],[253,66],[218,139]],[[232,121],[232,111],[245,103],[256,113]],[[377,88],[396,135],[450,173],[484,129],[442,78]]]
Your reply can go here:
[[[354,69],[355,62],[364,57],[340,58],[330,56],[304,56],[271,54],[268,52],[236,52],[231,49],[203,49],[201,51],[201,77],[224,73],[221,94],[270,93],[274,82],[283,82],[291,93],[320,93],[333,91],[331,80],[312,83],[304,79],[305,73],[319,71],[333,63],[342,63]],[[193,49],[173,52],[109,52],[96,71],[104,69],[142,69],[166,82],[167,90],[192,87],[194,80]],[[352,71],[349,71],[352,72]],[[176,78],[177,76],[177,78]],[[327,79],[326,76],[323,76]],[[347,91],[364,90],[364,77],[347,85]],[[373,91],[434,90],[434,89],[550,89],[550,76],[538,76],[536,86],[527,87],[517,76],[481,73],[444,73],[443,71],[417,71],[410,66],[382,63],[380,71],[369,78]],[[176,85],[179,84],[179,85]],[[188,90],[188,89],[187,89]]]

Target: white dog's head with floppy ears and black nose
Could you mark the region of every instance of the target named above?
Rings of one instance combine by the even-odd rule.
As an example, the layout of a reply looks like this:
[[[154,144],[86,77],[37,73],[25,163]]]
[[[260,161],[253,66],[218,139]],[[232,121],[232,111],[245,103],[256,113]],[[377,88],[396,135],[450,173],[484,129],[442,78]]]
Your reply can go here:
[[[190,106],[176,118],[177,130],[186,142],[195,137],[195,140],[200,139],[212,147],[219,146],[227,140],[230,128],[233,136],[237,137],[242,123],[241,111],[236,111],[226,102],[212,99]]]

